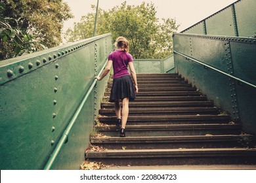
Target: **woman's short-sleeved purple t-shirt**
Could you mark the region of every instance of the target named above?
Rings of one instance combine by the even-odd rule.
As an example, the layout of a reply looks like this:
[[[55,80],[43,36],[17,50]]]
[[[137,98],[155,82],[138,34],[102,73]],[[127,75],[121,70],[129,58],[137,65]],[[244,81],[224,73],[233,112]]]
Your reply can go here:
[[[133,61],[133,56],[131,56],[131,54],[122,50],[115,50],[114,52],[110,53],[108,60],[113,61],[113,78],[130,75],[127,66],[130,61]]]

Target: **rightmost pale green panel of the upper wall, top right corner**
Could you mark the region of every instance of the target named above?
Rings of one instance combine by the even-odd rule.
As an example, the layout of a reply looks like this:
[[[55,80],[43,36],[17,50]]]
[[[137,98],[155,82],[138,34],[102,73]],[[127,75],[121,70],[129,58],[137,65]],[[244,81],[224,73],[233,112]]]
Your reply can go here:
[[[242,0],[235,4],[236,21],[240,37],[253,37],[256,35],[256,1]]]

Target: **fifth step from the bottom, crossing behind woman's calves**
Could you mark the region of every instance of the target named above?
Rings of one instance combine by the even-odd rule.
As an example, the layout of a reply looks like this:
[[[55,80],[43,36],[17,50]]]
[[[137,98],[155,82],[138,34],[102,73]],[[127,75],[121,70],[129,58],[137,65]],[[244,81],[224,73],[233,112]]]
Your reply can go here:
[[[211,114],[217,115],[219,109],[216,107],[180,107],[180,108],[130,108],[129,116],[156,116],[156,115],[196,115]],[[116,116],[114,108],[100,109],[99,114],[103,116]]]

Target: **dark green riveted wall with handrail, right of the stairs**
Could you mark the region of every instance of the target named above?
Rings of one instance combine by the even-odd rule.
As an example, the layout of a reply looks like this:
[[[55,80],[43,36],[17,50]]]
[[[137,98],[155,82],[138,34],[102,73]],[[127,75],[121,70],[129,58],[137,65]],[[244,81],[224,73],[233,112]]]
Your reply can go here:
[[[175,71],[256,133],[256,39],[176,33]]]

